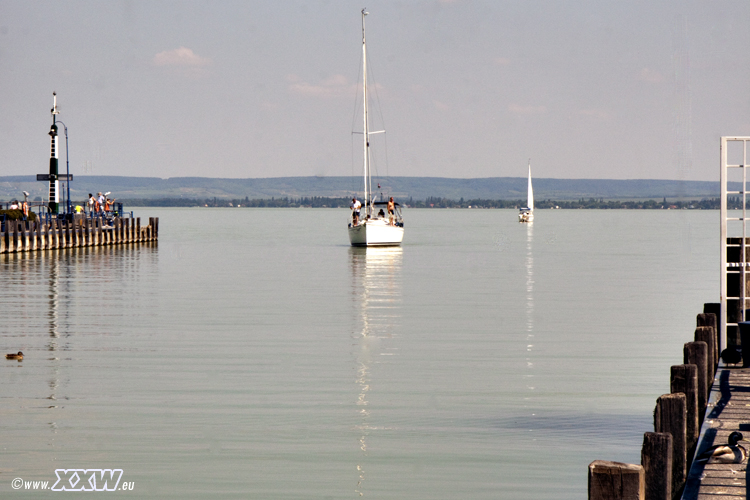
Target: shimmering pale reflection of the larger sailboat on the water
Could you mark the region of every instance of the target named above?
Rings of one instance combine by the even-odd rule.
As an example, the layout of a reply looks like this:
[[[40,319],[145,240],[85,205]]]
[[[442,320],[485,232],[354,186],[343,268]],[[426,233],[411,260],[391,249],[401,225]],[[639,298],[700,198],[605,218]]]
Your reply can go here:
[[[352,273],[352,305],[354,328],[352,339],[356,362],[358,395],[356,408],[361,450],[357,463],[357,487],[364,494],[367,439],[378,428],[371,424],[370,388],[375,380],[376,365],[383,356],[396,353],[393,330],[401,318],[401,247],[352,247],[349,249]]]

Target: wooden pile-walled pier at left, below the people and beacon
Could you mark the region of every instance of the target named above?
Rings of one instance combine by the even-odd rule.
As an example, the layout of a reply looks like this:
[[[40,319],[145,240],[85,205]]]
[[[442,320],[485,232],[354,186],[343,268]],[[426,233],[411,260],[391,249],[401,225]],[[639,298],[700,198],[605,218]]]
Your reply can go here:
[[[76,247],[98,247],[157,241],[159,218],[107,220],[102,217],[7,220],[0,225],[0,254]]]

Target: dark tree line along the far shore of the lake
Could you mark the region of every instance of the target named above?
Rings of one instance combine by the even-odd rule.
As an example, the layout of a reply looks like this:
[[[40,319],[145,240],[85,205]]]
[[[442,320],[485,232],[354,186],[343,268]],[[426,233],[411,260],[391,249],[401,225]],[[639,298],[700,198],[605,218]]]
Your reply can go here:
[[[348,197],[305,196],[283,198],[130,198],[118,200],[126,206],[136,207],[249,207],[249,208],[349,208],[351,199]],[[424,200],[396,200],[408,208],[520,208],[526,205],[524,200],[488,200],[464,198],[458,201],[439,196],[428,196]],[[77,202],[84,204],[85,202]],[[739,197],[728,200],[730,209],[742,208]],[[536,209],[599,209],[599,210],[665,210],[692,209],[718,210],[721,208],[719,198],[704,198],[701,200],[605,200],[604,198],[580,198],[578,200],[538,200],[534,203]],[[748,203],[750,208],[750,202]]]

